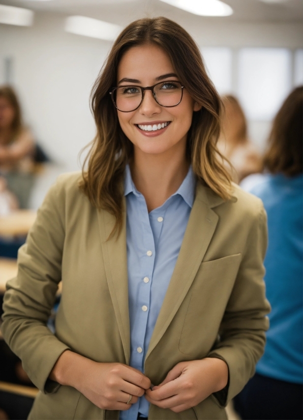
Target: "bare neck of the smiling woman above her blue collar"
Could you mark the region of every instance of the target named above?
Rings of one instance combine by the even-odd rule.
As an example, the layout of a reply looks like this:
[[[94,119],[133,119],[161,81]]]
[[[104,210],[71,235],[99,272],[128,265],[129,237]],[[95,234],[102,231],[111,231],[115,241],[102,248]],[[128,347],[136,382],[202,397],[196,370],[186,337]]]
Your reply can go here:
[[[151,212],[164,204],[183,183],[189,169],[186,142],[181,151],[170,149],[160,155],[142,153],[135,147],[130,168],[134,184]]]

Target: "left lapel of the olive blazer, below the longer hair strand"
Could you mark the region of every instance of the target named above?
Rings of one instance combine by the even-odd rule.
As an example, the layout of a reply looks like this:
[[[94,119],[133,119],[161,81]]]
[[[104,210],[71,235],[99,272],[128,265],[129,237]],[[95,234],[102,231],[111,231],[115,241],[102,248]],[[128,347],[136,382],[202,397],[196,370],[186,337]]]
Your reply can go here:
[[[125,204],[125,203],[124,203]],[[126,206],[124,205],[124,209]],[[123,227],[119,236],[114,235],[107,241],[115,218],[106,211],[98,212],[101,245],[112,304],[114,307],[120,337],[123,344],[126,364],[130,359],[130,322],[128,303],[128,274],[126,246],[126,212],[123,214]]]

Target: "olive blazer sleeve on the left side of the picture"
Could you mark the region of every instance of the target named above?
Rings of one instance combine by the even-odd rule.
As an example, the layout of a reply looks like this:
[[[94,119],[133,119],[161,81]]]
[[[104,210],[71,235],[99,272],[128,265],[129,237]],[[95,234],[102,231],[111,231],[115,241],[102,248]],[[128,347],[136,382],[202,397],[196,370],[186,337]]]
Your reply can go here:
[[[59,386],[47,378],[57,358],[68,349],[46,325],[61,280],[65,239],[65,197],[58,184],[47,193],[19,249],[18,274],[7,283],[3,305],[3,337],[44,393]]]

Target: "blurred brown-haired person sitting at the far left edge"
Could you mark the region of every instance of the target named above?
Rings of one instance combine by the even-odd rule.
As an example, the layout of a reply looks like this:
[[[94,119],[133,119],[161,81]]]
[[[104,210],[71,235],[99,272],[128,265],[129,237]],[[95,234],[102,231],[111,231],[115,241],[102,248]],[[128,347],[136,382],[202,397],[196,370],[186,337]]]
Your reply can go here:
[[[0,175],[20,208],[28,206],[34,184],[34,154],[34,137],[22,122],[17,95],[12,87],[0,86]]]

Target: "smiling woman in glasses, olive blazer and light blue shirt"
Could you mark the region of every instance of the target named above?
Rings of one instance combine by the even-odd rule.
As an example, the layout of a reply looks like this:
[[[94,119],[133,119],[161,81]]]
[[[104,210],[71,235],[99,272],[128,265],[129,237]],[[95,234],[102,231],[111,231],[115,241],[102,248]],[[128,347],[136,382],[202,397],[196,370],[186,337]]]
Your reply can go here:
[[[226,418],[269,308],[262,203],[216,160],[220,98],[158,17],[118,36],[92,104],[88,169],[48,193],[5,296],[4,337],[41,390],[29,418]]]

